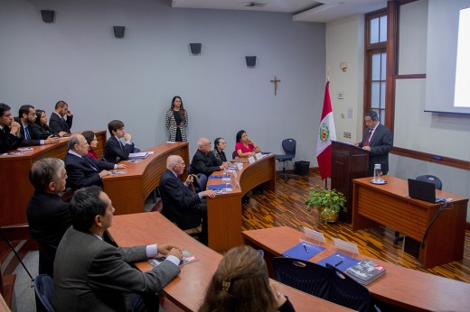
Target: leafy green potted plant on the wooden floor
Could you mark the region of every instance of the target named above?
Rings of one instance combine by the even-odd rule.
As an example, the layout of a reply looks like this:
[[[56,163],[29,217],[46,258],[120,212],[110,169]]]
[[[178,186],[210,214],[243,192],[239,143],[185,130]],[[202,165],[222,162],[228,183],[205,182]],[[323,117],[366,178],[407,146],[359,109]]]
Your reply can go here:
[[[336,189],[328,190],[318,185],[310,188],[308,198],[305,200],[306,209],[312,208],[318,210],[320,220],[324,222],[336,222],[340,211],[346,211],[346,197]]]

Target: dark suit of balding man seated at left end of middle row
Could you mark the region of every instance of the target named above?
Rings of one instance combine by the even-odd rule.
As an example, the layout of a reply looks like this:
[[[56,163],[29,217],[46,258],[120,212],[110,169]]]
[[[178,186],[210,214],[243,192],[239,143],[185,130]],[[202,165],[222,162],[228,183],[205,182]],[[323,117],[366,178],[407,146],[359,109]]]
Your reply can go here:
[[[114,163],[89,158],[88,155],[79,157],[67,152],[65,156],[65,170],[67,170],[67,187],[73,190],[92,185],[103,187],[99,177],[101,170],[114,169]]]

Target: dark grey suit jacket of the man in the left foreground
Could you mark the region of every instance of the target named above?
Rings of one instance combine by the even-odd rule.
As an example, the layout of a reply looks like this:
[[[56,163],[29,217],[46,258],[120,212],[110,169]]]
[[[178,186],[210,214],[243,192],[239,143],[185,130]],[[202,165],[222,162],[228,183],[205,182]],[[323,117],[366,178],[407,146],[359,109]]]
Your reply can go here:
[[[146,272],[129,264],[146,260],[146,246],[117,248],[70,227],[55,257],[52,304],[67,312],[131,311],[127,294],[155,295],[180,272],[167,260]]]

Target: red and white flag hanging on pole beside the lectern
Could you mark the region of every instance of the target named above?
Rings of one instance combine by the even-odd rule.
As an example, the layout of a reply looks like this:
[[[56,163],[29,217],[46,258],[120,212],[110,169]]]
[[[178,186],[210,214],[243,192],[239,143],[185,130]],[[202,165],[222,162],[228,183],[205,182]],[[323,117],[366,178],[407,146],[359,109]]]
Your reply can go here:
[[[332,140],[336,140],[336,131],[334,130],[332,101],[330,100],[330,81],[326,81],[324,108],[316,142],[316,161],[318,161],[322,179],[331,176],[332,173]]]

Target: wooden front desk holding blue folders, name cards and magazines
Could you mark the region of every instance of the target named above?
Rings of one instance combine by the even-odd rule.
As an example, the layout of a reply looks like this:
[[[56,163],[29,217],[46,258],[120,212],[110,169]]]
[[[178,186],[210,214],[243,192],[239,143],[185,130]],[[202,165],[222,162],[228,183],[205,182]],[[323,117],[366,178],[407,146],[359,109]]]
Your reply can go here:
[[[265,252],[268,271],[271,273],[272,258],[281,256],[283,252],[299,243],[299,240],[315,243],[304,233],[287,226],[243,231],[243,237],[245,243]],[[334,252],[342,252],[361,261],[370,259],[385,267],[385,274],[366,286],[371,292],[371,297],[379,301],[379,307],[381,301],[396,307],[393,310],[468,311],[470,307],[470,283],[410,270],[363,255],[353,255],[336,249],[331,243],[316,244],[325,249],[309,262],[319,262]]]

